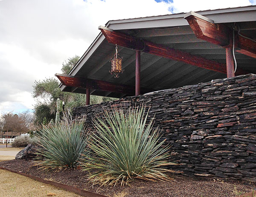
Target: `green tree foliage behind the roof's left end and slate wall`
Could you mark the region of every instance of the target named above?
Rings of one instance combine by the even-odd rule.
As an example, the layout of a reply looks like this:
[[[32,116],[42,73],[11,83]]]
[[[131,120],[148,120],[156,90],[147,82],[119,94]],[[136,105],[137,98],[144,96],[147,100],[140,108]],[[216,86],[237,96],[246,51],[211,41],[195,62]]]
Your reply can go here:
[[[68,58],[68,61],[62,64],[61,71],[63,74],[68,74],[76,65],[80,57],[75,55],[73,58]],[[61,92],[58,87],[59,81],[56,78],[47,78],[42,81],[35,81],[32,96],[36,99],[35,105],[35,123],[42,124],[44,117],[47,123],[54,119],[56,113],[56,101],[60,99],[64,101],[64,110],[71,110],[73,107],[86,105],[86,95],[78,93]],[[90,104],[101,103],[102,101],[110,101],[111,98],[101,96],[90,96]]]

